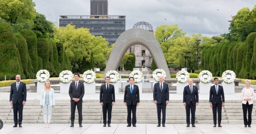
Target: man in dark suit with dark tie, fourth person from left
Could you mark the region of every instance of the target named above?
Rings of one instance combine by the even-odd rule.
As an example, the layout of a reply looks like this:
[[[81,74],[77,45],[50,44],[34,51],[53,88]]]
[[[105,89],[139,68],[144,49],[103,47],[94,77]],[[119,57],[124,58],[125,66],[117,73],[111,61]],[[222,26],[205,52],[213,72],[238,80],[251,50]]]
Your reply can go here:
[[[110,77],[105,77],[106,84],[101,86],[100,103],[103,111],[103,126],[110,127],[112,106],[115,105],[115,87],[109,84]]]

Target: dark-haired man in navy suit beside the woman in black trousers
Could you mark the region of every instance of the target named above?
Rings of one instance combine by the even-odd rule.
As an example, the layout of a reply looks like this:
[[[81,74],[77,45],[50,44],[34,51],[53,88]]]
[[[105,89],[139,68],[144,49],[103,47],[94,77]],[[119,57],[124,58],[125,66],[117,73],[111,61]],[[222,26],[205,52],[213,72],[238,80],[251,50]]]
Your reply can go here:
[[[217,124],[217,109],[218,109],[218,127],[221,126],[221,109],[225,105],[225,97],[224,97],[224,90],[221,85],[219,85],[219,79],[214,78],[214,85],[210,88],[210,107],[212,107],[213,113],[213,127],[216,127]],[[222,100],[221,100],[222,98]]]

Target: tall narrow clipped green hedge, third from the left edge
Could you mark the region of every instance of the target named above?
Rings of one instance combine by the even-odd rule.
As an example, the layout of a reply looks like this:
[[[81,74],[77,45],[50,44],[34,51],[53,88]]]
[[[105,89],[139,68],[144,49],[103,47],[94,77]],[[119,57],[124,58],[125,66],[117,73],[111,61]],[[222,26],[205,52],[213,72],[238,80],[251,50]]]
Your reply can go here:
[[[38,67],[38,56],[37,56],[37,39],[36,35],[32,30],[23,29],[20,34],[26,39],[28,44],[28,53],[31,58],[31,63],[35,71],[39,70]]]

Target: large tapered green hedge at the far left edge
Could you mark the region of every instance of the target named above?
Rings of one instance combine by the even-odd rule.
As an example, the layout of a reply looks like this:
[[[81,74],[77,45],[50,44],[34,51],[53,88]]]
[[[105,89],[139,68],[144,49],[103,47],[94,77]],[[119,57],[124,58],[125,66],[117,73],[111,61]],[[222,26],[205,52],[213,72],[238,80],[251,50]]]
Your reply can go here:
[[[19,51],[17,48],[17,39],[12,32],[11,26],[6,23],[0,23],[0,80],[4,80],[4,75],[8,79],[15,78],[16,74],[25,78],[23,73]]]

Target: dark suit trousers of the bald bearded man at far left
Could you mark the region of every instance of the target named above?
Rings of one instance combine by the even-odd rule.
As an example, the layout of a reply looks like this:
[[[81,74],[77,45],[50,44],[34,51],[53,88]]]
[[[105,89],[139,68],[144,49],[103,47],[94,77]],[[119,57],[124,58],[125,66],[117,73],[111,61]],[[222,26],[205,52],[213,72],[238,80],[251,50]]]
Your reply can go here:
[[[22,124],[23,105],[16,103],[16,104],[12,104],[12,107],[13,107],[14,124]],[[18,121],[18,112],[19,112],[19,121]]]

